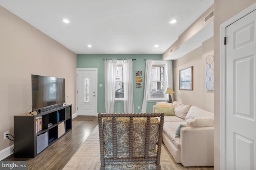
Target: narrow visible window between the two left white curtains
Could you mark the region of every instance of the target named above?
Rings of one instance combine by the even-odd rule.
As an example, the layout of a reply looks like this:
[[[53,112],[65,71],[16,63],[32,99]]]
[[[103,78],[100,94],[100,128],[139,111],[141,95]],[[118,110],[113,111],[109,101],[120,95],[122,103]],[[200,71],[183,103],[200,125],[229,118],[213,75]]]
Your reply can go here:
[[[116,63],[115,100],[124,100],[123,62]]]

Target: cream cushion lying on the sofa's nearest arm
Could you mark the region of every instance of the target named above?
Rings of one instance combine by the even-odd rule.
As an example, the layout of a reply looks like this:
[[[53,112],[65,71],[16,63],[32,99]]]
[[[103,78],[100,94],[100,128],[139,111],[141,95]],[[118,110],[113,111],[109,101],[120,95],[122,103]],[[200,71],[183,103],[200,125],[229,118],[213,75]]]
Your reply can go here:
[[[214,127],[214,119],[209,117],[190,119],[186,127]]]

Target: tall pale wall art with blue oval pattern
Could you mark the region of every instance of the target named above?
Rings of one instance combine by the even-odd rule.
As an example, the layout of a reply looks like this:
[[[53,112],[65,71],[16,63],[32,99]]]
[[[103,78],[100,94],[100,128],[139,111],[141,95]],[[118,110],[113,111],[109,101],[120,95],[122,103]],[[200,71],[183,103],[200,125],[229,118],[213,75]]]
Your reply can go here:
[[[213,55],[208,55],[206,57],[205,66],[205,88],[206,90],[214,90],[214,57]]]

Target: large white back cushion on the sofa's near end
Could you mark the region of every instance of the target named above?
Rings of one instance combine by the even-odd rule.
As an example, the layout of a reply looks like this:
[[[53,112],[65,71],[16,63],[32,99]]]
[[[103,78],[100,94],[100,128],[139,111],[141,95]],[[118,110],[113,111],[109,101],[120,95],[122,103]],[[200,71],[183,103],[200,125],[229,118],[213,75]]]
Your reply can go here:
[[[193,117],[194,118],[209,117],[209,118],[214,119],[214,113],[212,113],[210,111],[206,111],[204,109],[201,109],[200,107],[197,107],[197,106],[191,106],[186,115],[185,121],[188,122]]]

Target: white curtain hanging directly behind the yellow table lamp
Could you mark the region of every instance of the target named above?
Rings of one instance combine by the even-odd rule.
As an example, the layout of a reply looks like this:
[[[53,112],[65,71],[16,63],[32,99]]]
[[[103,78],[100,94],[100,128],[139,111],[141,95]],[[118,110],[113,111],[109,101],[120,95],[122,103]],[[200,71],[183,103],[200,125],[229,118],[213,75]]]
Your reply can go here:
[[[172,90],[173,90],[173,77],[172,77],[172,60],[166,60],[165,61],[165,80],[166,83],[164,84],[164,88],[168,88],[168,87],[171,87]],[[166,94],[166,98],[168,97],[169,94]],[[172,101],[174,101],[174,97],[173,97],[173,94],[171,94],[171,97],[172,97]]]

